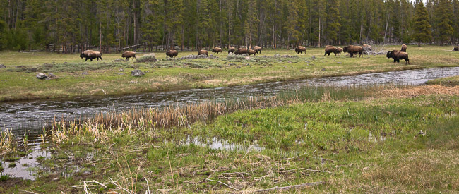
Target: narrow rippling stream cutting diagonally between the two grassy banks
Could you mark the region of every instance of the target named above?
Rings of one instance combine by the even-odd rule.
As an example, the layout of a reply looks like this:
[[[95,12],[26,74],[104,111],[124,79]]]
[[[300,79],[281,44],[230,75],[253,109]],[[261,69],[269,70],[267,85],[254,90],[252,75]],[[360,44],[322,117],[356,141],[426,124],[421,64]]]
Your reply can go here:
[[[15,135],[42,133],[46,122],[76,119],[100,112],[121,111],[134,107],[160,108],[169,104],[201,102],[206,99],[238,98],[253,95],[275,95],[282,90],[295,90],[304,85],[422,85],[427,80],[459,75],[459,67],[424,68],[418,70],[369,73],[354,76],[314,78],[306,80],[261,83],[213,89],[151,92],[117,97],[76,98],[66,100],[35,100],[0,103],[0,128],[12,128]]]

